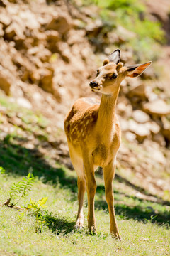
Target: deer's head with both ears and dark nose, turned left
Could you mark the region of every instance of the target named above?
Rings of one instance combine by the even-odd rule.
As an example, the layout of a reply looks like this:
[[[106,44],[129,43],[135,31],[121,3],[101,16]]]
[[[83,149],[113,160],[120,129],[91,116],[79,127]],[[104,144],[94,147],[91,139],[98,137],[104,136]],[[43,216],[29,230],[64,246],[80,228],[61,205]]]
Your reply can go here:
[[[91,90],[106,95],[114,94],[125,77],[135,78],[141,75],[151,63],[149,61],[145,64],[125,67],[120,62],[120,50],[117,49],[104,60],[103,66],[96,70],[96,78],[90,82]]]

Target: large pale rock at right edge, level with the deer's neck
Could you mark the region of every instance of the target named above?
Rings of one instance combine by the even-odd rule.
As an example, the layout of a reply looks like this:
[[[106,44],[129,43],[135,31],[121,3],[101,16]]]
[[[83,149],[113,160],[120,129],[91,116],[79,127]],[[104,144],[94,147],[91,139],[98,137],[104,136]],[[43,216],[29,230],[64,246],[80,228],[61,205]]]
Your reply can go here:
[[[164,116],[170,114],[170,106],[164,100],[158,99],[143,105],[143,109],[149,114]]]

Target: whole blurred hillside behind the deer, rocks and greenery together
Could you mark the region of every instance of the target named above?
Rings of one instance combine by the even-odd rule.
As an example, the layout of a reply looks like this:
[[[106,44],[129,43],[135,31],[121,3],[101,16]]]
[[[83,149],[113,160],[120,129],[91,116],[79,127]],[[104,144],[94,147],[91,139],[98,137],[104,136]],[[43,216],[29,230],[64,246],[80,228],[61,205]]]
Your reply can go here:
[[[116,48],[125,65],[153,62],[122,83],[116,178],[169,204],[169,0],[0,0],[1,166],[46,159],[72,169],[64,117],[77,98],[100,97],[89,81]]]

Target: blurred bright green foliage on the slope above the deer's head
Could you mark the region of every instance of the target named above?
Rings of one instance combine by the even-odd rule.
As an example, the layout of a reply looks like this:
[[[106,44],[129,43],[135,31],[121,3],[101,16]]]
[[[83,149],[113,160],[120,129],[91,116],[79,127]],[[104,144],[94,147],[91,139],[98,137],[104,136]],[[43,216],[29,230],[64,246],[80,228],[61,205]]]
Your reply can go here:
[[[103,21],[101,34],[106,35],[108,32],[123,38],[123,41],[114,42],[121,48],[132,48],[135,53],[135,61],[142,62],[146,58],[155,60],[160,54],[159,44],[165,43],[165,34],[162,24],[152,21],[147,12],[145,3],[141,0],[81,0],[82,4],[89,6],[95,4],[98,6],[98,15]],[[97,18],[97,16],[96,16]],[[122,34],[120,26],[134,33],[134,36],[128,37]],[[95,41],[96,42],[96,41]]]

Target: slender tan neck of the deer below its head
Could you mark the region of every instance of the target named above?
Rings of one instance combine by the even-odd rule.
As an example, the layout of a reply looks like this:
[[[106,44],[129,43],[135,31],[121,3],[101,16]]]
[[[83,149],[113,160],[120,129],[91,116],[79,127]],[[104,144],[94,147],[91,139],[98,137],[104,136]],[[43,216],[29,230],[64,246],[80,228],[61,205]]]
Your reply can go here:
[[[113,140],[115,129],[115,107],[118,99],[118,93],[114,95],[102,95],[101,104],[98,110],[98,119],[96,123],[100,140],[103,144],[109,144]]]

